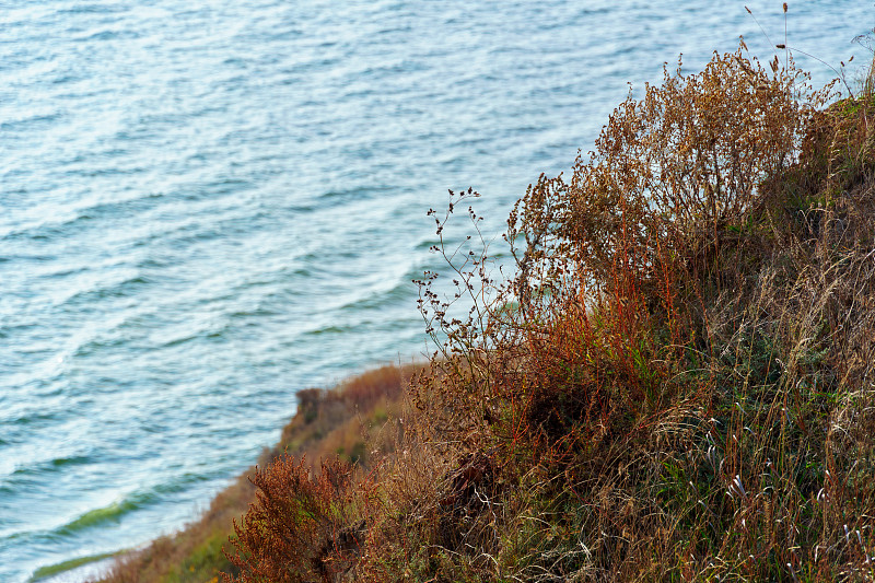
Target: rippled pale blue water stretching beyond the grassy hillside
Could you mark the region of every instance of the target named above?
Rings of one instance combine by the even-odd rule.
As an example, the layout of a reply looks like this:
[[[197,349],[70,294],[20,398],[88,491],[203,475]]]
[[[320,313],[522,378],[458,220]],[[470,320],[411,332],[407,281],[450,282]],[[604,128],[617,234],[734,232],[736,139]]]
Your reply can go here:
[[[786,23],[871,59],[871,5]],[[627,82],[738,35],[771,57],[742,2],[0,1],[0,581],[180,527],[296,389],[429,351],[446,189],[498,232]]]

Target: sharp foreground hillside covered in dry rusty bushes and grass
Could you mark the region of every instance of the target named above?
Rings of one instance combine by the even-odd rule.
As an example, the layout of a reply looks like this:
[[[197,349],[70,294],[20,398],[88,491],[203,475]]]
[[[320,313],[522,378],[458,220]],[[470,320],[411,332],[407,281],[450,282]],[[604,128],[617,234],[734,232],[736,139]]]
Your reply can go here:
[[[875,576],[875,101],[785,65],[622,103],[516,205],[510,277],[469,210],[380,453],[259,469],[225,580]]]

